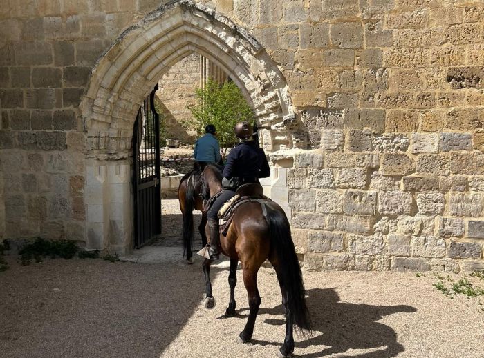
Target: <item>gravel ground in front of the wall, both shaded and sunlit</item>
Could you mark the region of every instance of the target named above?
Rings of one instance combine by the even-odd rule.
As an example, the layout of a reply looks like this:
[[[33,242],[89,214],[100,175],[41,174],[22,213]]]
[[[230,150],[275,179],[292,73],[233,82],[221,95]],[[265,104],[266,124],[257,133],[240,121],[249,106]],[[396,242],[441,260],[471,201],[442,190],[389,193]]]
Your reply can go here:
[[[163,210],[156,248],[178,250],[176,201]],[[198,257],[192,266],[181,253],[151,264],[46,259],[21,266],[6,258],[10,268],[0,272],[2,358],[273,358],[283,341],[281,295],[270,268],[259,272],[262,304],[254,337],[240,344],[247,295],[239,270],[237,316],[223,317],[227,261],[212,268],[217,304],[207,310]],[[296,337],[295,355],[484,357],[483,296],[450,299],[432,286],[437,281],[431,272],[304,272],[314,332]]]

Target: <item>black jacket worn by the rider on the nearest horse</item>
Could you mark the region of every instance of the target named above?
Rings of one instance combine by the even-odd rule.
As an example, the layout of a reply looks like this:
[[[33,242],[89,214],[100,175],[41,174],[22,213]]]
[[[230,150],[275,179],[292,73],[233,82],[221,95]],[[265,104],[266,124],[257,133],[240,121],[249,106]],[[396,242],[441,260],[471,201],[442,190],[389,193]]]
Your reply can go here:
[[[269,163],[262,148],[255,141],[244,141],[230,150],[227,163],[223,168],[223,177],[239,177],[246,182],[270,175]]]

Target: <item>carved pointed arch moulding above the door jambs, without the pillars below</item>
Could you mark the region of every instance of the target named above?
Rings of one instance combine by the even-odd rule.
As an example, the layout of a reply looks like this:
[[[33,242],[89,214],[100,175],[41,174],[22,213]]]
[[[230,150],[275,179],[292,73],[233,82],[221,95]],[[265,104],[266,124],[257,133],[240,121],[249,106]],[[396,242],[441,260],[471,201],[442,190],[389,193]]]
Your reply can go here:
[[[174,63],[193,52],[216,63],[241,88],[268,152],[306,148],[277,63],[247,30],[206,6],[181,0],[124,30],[95,64],[80,105],[89,158],[129,156],[140,103]]]

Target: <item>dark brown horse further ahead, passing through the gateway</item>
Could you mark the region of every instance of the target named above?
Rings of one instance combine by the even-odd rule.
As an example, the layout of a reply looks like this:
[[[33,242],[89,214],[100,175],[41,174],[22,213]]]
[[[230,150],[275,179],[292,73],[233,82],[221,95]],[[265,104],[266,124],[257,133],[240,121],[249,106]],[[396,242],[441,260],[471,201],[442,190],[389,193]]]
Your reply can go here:
[[[183,255],[186,255],[188,263],[193,263],[194,210],[202,212],[202,221],[198,226],[198,231],[202,237],[202,246],[207,245],[207,236],[205,235],[207,215],[203,211],[201,192],[201,172],[199,170],[192,170],[180,180],[178,202],[183,216]]]

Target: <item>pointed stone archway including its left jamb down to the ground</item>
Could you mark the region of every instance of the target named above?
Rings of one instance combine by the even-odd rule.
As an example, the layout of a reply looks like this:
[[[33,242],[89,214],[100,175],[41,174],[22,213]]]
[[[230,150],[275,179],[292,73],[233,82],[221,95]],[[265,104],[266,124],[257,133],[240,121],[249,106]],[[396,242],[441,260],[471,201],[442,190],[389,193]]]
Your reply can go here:
[[[203,54],[243,90],[268,152],[305,147],[286,79],[254,37],[214,10],[174,1],[125,30],[97,61],[80,105],[87,134],[86,246],[129,252],[131,137],[140,103],[188,54]]]

